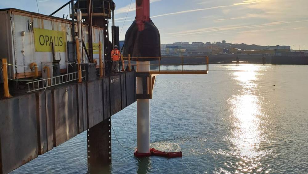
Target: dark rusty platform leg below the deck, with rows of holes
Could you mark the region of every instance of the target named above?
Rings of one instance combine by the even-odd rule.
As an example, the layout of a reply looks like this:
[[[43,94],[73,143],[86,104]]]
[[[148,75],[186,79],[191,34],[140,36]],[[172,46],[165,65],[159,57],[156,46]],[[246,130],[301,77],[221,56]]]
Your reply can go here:
[[[87,130],[88,163],[99,170],[111,163],[111,118]]]

